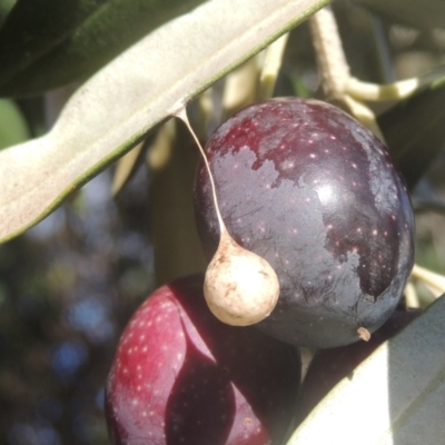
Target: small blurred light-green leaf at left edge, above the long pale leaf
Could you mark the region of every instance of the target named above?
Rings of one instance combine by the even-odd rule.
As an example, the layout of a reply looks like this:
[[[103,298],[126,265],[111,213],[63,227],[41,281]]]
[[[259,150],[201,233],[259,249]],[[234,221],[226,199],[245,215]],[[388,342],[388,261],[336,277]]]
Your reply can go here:
[[[0,99],[0,150],[29,139],[29,129],[19,107],[9,99]]]

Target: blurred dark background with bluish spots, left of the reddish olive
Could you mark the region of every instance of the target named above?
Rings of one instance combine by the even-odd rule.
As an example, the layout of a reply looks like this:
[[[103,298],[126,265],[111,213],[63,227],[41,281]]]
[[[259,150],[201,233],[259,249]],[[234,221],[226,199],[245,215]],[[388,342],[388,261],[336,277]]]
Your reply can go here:
[[[147,178],[119,202],[110,171],[0,247],[0,444],[108,443],[103,384],[150,289]]]

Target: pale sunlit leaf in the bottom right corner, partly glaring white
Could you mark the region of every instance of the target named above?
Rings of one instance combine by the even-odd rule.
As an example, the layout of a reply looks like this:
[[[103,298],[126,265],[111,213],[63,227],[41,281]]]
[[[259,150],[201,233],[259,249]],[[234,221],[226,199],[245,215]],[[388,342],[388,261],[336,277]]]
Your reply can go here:
[[[443,444],[445,297],[343,379],[287,445]]]

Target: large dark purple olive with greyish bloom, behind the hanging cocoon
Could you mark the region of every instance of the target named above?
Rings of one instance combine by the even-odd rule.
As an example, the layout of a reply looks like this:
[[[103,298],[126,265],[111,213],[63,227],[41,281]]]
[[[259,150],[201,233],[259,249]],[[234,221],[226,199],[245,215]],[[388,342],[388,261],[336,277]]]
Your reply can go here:
[[[326,348],[382,326],[413,267],[414,217],[373,134],[328,103],[279,98],[228,119],[206,151],[229,234],[279,278],[278,304],[260,329]],[[219,228],[204,164],[195,214],[210,258]]]

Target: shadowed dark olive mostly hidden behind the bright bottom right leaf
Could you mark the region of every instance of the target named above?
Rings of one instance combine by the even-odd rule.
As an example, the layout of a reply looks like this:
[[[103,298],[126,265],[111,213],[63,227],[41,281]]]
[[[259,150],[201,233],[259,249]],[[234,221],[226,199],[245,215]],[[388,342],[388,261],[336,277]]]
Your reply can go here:
[[[419,310],[397,309],[374,333],[369,342],[317,350],[301,385],[297,404],[297,423],[303,422],[338,382],[346,376],[353,378],[354,369],[365,358],[407,326],[419,313]]]

